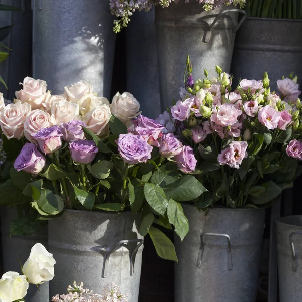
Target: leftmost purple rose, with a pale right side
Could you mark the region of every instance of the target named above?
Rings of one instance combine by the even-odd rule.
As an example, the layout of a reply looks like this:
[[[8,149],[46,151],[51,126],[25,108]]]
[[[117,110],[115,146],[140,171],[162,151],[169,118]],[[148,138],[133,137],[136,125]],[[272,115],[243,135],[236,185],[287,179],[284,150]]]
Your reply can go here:
[[[24,170],[27,173],[37,175],[45,166],[45,158],[33,143],[27,142],[18,155],[14,168],[19,172]]]

